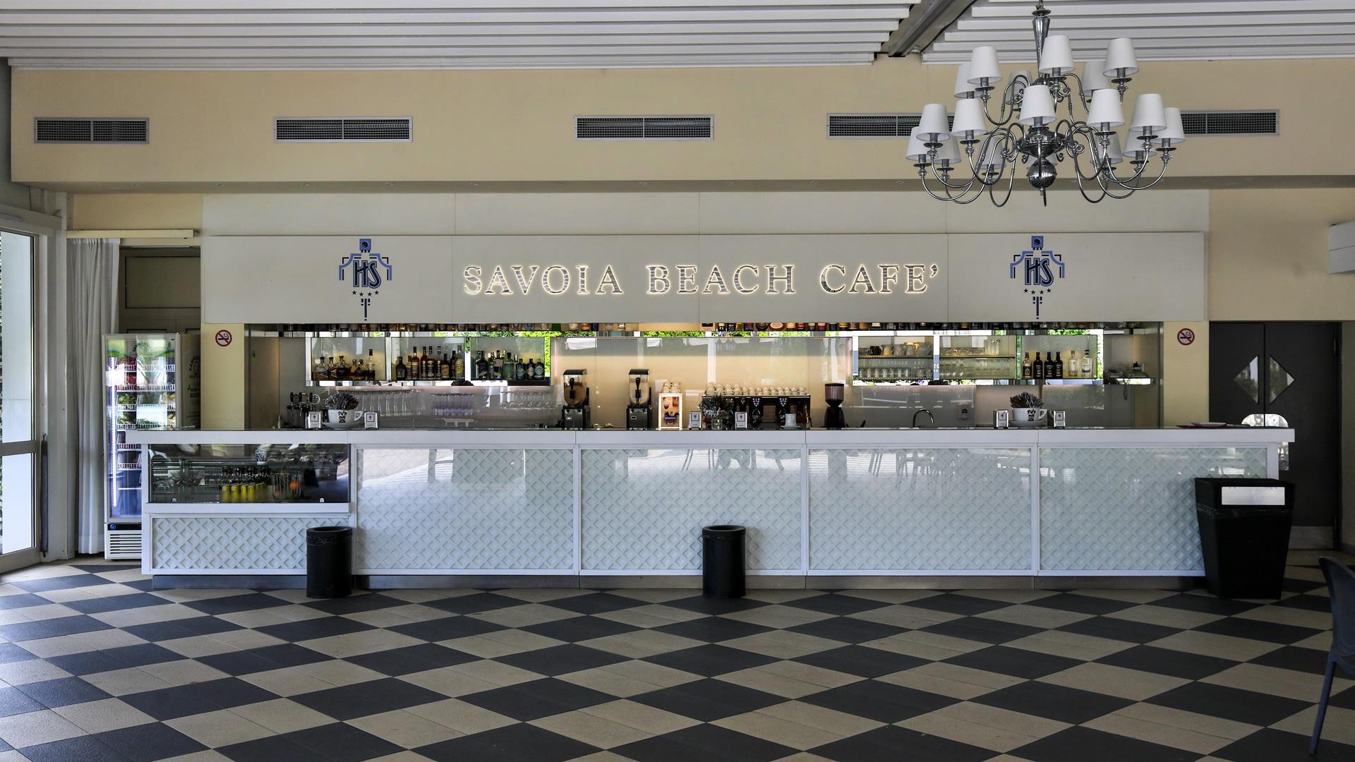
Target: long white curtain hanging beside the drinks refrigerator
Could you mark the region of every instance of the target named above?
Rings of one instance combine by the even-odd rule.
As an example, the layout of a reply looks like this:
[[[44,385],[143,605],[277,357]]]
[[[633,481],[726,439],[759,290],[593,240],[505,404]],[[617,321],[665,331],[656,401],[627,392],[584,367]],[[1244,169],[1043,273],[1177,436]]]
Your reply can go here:
[[[66,244],[70,287],[70,418],[76,430],[76,549],[103,552],[104,454],[103,335],[117,329],[118,239]]]

